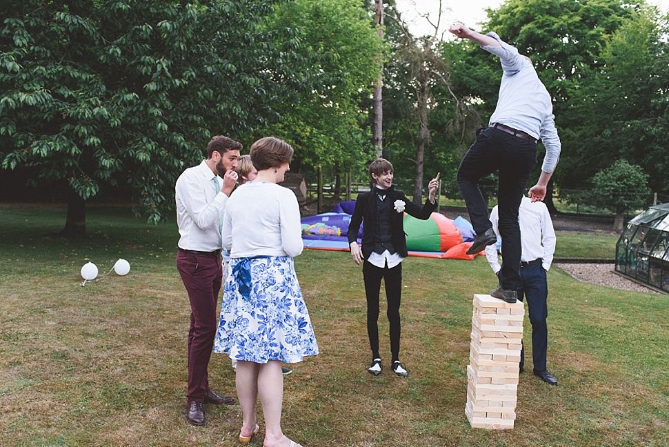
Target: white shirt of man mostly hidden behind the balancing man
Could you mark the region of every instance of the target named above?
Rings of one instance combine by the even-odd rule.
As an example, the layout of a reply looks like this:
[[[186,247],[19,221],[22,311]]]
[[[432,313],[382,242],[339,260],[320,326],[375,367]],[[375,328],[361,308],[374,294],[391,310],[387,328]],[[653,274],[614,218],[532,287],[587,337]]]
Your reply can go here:
[[[497,206],[490,212],[492,229],[499,235],[499,214]],[[528,197],[523,197],[518,210],[518,221],[521,235],[521,261],[529,262],[541,258],[543,269],[548,271],[555,253],[555,230],[550,220],[546,203],[541,201],[532,203]],[[504,254],[502,253],[502,257]],[[488,264],[495,273],[499,272],[499,258],[495,244],[486,247]]]

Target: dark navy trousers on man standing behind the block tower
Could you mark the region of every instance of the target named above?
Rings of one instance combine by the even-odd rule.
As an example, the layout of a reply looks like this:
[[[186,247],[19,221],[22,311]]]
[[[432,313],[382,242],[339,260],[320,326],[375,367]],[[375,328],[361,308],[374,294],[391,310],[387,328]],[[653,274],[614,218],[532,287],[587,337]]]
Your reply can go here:
[[[546,270],[541,264],[521,267],[520,277],[523,285],[518,288],[518,299],[527,298],[528,315],[532,324],[532,361],[535,370],[546,370],[546,349],[548,347],[548,284]],[[525,350],[520,352],[520,364],[525,364]]]

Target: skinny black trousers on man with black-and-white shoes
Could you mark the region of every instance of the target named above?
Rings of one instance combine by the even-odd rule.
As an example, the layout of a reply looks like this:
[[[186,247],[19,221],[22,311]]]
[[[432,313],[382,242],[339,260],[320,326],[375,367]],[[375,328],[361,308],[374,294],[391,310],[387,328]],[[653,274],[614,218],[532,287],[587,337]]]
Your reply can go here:
[[[399,305],[402,297],[402,263],[393,268],[379,268],[369,261],[362,266],[367,295],[367,333],[370,338],[372,358],[379,355],[379,292],[381,279],[386,284],[386,299],[388,299],[388,321],[390,322],[390,353],[392,360],[399,360],[399,337],[401,335]]]

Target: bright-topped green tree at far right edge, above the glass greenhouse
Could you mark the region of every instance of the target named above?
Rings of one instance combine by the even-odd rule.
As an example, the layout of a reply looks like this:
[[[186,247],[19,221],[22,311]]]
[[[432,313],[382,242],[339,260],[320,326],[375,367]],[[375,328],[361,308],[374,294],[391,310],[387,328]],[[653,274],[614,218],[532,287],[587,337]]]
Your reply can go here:
[[[561,184],[575,188],[610,159],[625,158],[648,172],[653,190],[669,190],[669,51],[661,23],[655,8],[634,12],[603,41],[601,67],[572,89],[567,141],[579,143],[568,146]]]

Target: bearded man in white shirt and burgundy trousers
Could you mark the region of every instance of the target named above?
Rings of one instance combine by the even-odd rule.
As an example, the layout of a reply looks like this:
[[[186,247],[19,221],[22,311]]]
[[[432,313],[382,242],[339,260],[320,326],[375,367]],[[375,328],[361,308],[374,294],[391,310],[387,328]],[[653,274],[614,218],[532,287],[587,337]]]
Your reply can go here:
[[[177,179],[177,270],[190,300],[188,332],[188,413],[190,424],[204,424],[203,404],[232,404],[209,388],[208,366],[217,329],[216,306],[223,280],[221,222],[223,210],[237,183],[241,143],[213,137],[207,159]],[[222,176],[222,178],[221,178]]]

